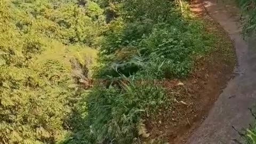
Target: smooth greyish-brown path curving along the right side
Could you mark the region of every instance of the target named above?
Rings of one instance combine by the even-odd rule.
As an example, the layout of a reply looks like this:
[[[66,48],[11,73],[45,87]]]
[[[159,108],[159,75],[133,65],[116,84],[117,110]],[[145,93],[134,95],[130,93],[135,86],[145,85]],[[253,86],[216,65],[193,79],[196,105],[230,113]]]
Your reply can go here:
[[[256,103],[256,40],[248,42],[239,34],[239,14],[234,4],[218,0],[203,0],[203,5],[211,17],[225,29],[233,39],[238,59],[236,76],[214,103],[208,117],[188,139],[188,144],[237,143],[238,130],[252,121],[248,108]],[[255,37],[255,36],[254,36]]]

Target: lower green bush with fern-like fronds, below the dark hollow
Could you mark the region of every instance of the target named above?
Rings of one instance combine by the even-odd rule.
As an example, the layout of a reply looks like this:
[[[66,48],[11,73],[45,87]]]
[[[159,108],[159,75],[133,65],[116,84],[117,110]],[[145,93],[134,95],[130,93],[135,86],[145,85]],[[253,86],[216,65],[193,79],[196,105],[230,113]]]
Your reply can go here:
[[[94,87],[77,107],[82,121],[77,123],[83,125],[75,126],[78,131],[66,143],[132,143],[142,129],[142,116],[154,114],[169,101],[161,86],[146,83],[122,83],[122,89]]]

